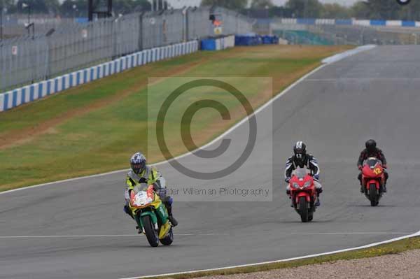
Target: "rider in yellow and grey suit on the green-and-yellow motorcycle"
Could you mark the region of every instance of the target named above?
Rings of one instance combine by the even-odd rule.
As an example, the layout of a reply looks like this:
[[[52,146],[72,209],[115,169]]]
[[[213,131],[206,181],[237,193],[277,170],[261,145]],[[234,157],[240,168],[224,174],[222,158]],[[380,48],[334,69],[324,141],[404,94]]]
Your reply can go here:
[[[126,190],[125,190],[125,199],[126,203],[124,206],[124,212],[130,215],[134,219],[132,215],[132,210],[128,206],[128,201],[130,200],[130,192],[136,185],[140,183],[147,183],[148,185],[153,185],[153,189],[157,192],[162,199],[162,202],[165,204],[168,215],[169,221],[171,222],[172,226],[175,227],[178,222],[172,215],[172,197],[166,195],[166,183],[165,178],[163,178],[159,171],[155,169],[153,166],[148,166],[146,164],[146,157],[144,157],[141,152],[137,152],[136,154],[132,155],[130,159],[131,169],[127,173],[127,178],[125,180]]]

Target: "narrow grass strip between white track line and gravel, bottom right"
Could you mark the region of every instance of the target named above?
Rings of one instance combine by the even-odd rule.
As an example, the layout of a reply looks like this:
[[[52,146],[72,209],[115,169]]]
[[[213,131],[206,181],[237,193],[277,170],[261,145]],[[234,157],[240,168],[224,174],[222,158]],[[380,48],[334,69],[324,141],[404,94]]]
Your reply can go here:
[[[339,260],[362,259],[366,257],[379,257],[384,255],[398,254],[407,250],[420,249],[420,237],[405,238],[401,241],[395,241],[378,245],[372,248],[353,250],[349,252],[339,252],[337,254],[313,257],[308,259],[299,259],[290,262],[279,262],[274,264],[261,264],[257,266],[240,267],[234,269],[222,269],[218,271],[203,271],[197,273],[186,273],[173,276],[157,276],[153,278],[173,278],[187,279],[200,278],[204,276],[225,276],[239,273],[254,273],[259,271],[270,271],[274,269],[288,269],[297,266],[307,266],[311,264],[322,264],[326,262],[336,262]]]

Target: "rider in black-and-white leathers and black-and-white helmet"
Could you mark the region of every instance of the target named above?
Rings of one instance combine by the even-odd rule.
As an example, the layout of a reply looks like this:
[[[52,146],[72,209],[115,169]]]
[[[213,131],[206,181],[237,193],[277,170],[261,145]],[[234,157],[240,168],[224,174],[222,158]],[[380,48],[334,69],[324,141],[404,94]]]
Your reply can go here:
[[[319,200],[319,194],[322,193],[322,185],[319,183],[319,166],[318,162],[316,161],[315,157],[307,154],[306,145],[302,141],[297,141],[293,146],[294,155],[287,159],[286,161],[286,170],[284,171],[284,178],[286,183],[290,183],[290,177],[292,172],[300,168],[306,168],[311,171],[311,176],[314,178],[314,185],[316,189],[316,195],[318,199],[316,199],[315,206],[320,206],[321,201]],[[286,194],[290,196],[290,184],[286,187]]]

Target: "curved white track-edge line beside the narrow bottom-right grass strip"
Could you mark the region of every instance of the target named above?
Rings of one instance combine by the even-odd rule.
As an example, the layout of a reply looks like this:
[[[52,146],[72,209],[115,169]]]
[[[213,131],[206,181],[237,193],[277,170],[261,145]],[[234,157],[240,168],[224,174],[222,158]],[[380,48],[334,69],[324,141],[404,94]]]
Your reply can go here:
[[[137,277],[120,278],[120,279],[141,279],[141,278],[152,278],[152,277],[161,277],[161,276],[175,276],[175,275],[180,275],[180,274],[188,274],[188,273],[196,273],[196,272],[220,271],[220,270],[223,270],[223,269],[236,269],[236,268],[239,268],[239,267],[260,266],[262,264],[276,264],[276,263],[279,263],[279,262],[290,262],[290,261],[294,261],[294,260],[297,260],[297,259],[308,259],[308,258],[311,258],[311,257],[319,257],[319,256],[337,254],[339,252],[348,252],[348,251],[353,251],[353,250],[371,248],[371,247],[374,247],[374,246],[377,246],[377,245],[391,243],[393,241],[400,241],[402,239],[410,238],[410,237],[414,237],[414,236],[420,236],[420,231],[416,232],[416,234],[410,234],[408,236],[400,236],[398,238],[392,238],[388,241],[381,241],[381,242],[377,242],[377,243],[358,246],[358,247],[355,247],[355,248],[347,248],[347,249],[336,250],[336,251],[332,251],[332,252],[319,253],[319,254],[314,254],[314,255],[307,255],[307,256],[302,256],[302,257],[279,259],[277,261],[270,261],[270,262],[259,262],[259,263],[256,263],[256,264],[241,264],[241,265],[238,265],[238,266],[225,266],[225,267],[221,267],[221,268],[218,268],[218,269],[202,269],[202,270],[196,270],[196,271],[165,273],[165,274],[158,274],[158,275],[153,275],[153,276],[137,276]]]

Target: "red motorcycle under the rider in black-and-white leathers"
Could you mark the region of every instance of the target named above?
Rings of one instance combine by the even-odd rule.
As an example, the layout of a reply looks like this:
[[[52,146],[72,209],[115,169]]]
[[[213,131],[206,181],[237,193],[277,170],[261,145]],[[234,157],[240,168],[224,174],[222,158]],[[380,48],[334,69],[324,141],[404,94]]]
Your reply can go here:
[[[290,196],[293,207],[300,215],[302,222],[308,222],[314,219],[317,199],[314,178],[307,169],[297,168],[290,178]]]

